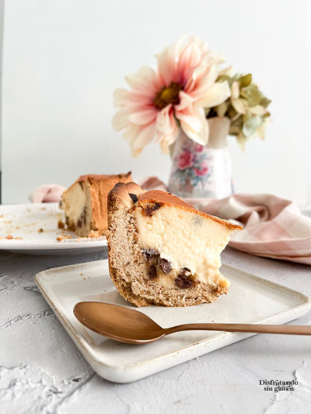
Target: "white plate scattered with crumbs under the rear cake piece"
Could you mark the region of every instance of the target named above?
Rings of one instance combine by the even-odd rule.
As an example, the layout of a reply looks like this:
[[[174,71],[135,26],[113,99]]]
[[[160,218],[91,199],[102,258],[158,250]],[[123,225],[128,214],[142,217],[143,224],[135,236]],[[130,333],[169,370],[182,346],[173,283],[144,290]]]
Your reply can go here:
[[[106,237],[77,237],[75,233],[57,228],[64,221],[59,203],[13,204],[0,206],[0,249],[33,255],[82,253],[106,246]],[[39,232],[42,228],[43,232]],[[70,239],[57,241],[69,235]],[[7,236],[12,235],[13,239]]]

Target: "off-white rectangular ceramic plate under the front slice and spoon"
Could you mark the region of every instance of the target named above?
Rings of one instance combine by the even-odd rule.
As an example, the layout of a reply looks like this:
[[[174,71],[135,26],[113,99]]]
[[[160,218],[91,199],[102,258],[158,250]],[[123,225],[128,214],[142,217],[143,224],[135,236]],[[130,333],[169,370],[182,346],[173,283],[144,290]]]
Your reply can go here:
[[[308,312],[308,297],[230,266],[222,273],[229,293],[213,304],[187,308],[147,306],[139,311],[160,326],[191,322],[284,324]],[[173,333],[145,345],[121,344],[88,330],[73,315],[81,301],[100,301],[135,308],[117,293],[107,260],[44,270],[36,282],[70,337],[98,375],[113,382],[131,382],[255,334],[216,331]],[[138,308],[135,308],[138,309]]]

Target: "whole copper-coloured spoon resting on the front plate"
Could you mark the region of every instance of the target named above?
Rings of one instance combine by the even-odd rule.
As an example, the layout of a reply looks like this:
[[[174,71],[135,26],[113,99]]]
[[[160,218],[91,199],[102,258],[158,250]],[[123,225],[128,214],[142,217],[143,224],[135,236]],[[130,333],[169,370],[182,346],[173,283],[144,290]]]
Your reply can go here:
[[[311,335],[311,326],[261,324],[185,324],[161,328],[149,316],[124,306],[102,302],[79,302],[73,308],[75,317],[84,326],[111,339],[126,344],[147,344],[173,332],[227,331],[253,333],[283,333]]]

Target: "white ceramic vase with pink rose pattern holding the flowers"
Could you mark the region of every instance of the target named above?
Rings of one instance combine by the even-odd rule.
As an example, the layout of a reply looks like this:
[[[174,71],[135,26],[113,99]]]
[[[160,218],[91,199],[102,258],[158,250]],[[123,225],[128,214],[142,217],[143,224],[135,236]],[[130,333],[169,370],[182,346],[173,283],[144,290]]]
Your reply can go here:
[[[232,194],[232,164],[227,148],[229,119],[208,119],[209,142],[202,146],[180,130],[171,150],[169,191],[179,197],[220,199]]]

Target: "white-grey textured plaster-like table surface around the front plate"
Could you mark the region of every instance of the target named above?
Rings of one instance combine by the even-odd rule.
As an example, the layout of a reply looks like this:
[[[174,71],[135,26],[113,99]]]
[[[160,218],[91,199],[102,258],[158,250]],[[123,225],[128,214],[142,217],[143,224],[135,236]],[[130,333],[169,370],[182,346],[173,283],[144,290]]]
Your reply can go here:
[[[311,337],[256,335],[131,384],[102,380],[35,286],[41,270],[106,257],[0,252],[0,412],[310,413]],[[311,268],[227,248],[223,263],[311,296]],[[311,314],[294,324],[310,324]],[[295,380],[264,391],[260,380]]]

